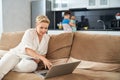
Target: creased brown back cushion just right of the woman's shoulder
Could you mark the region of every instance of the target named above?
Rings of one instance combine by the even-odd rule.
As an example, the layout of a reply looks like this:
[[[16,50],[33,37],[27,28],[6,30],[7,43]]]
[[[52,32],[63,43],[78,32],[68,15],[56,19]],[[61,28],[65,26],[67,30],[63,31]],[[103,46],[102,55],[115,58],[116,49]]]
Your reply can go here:
[[[73,41],[73,33],[62,33],[50,37],[47,58],[60,59],[67,58]]]

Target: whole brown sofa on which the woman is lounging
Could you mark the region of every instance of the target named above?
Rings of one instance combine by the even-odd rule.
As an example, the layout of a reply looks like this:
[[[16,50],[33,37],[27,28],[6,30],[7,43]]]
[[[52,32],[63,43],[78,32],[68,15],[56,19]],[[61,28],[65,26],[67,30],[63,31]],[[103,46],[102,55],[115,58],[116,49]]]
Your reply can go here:
[[[17,46],[23,34],[23,31],[2,33],[0,57]],[[46,57],[53,65],[81,61],[73,73],[46,80],[120,80],[120,36],[82,32],[52,34]],[[43,79],[34,72],[11,70],[3,80]]]

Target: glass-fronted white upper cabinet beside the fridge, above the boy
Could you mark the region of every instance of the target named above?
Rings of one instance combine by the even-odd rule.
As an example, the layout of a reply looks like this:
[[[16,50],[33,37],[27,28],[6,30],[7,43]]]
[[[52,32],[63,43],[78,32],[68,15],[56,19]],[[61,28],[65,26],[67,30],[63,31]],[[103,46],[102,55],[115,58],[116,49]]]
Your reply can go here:
[[[52,0],[52,11],[69,10],[69,0]]]

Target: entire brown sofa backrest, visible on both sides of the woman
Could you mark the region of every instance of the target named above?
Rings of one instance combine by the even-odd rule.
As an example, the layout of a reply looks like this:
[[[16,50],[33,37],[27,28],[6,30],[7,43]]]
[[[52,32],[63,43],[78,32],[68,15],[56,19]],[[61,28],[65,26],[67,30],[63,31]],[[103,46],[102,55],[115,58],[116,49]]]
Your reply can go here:
[[[19,44],[24,32],[2,33],[0,49],[9,50]],[[120,36],[62,33],[51,35],[47,58],[74,57],[80,60],[120,63]]]

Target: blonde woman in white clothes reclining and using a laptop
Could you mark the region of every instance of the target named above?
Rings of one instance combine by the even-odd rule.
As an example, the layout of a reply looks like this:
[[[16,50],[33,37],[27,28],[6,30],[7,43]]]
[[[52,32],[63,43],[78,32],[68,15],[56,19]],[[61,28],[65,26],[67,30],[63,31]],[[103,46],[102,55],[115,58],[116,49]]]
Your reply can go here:
[[[36,28],[26,30],[20,44],[1,58],[0,80],[10,70],[33,72],[39,62],[43,62],[45,68],[50,69],[52,64],[45,58],[50,38],[46,34],[49,24],[50,21],[46,16],[38,16]]]

